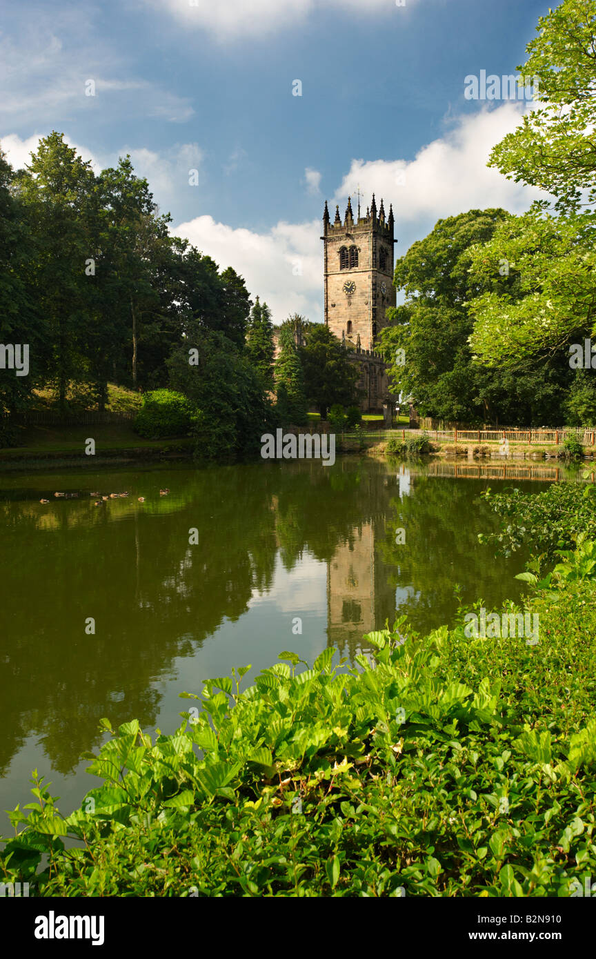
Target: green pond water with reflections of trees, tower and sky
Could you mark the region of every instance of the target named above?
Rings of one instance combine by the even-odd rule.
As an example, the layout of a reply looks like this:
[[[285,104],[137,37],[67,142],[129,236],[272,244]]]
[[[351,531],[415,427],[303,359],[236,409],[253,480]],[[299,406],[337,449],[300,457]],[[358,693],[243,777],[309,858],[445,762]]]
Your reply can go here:
[[[103,716],[172,732],[178,694],[232,666],[353,656],[396,608],[419,631],[452,622],[455,583],[487,606],[519,596],[523,557],[477,543],[489,484],[347,457],[0,477],[0,810],[29,801],[34,767],[62,811],[79,804]]]

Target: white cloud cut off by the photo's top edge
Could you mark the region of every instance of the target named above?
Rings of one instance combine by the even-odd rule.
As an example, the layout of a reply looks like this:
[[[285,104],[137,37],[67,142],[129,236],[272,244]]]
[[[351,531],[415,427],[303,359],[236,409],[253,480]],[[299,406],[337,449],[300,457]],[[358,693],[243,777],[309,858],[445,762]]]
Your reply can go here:
[[[304,24],[318,10],[335,7],[355,16],[385,12],[403,18],[406,8],[393,0],[146,0],[152,7],[171,13],[185,27],[206,30],[219,40],[247,35],[267,36]],[[407,8],[417,0],[406,0]]]

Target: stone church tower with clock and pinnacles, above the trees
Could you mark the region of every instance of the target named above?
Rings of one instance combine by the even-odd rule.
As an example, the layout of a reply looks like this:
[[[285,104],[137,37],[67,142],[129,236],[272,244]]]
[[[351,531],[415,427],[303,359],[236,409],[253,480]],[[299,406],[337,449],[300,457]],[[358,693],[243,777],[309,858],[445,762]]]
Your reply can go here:
[[[327,201],[323,214],[325,244],[325,322],[339,339],[375,348],[375,340],[387,325],[385,310],[396,305],[393,286],[393,209],[385,220],[383,201],[377,212],[375,194],[366,216],[352,212],[352,199],[344,221],[339,207],[331,222]]]

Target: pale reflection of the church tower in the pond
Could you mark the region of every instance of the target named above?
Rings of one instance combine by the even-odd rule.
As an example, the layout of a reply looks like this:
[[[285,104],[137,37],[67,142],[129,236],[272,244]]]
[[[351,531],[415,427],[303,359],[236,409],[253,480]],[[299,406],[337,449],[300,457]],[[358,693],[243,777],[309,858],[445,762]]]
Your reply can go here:
[[[395,589],[375,550],[375,523],[355,526],[327,564],[327,644],[354,657],[365,633],[393,625]]]

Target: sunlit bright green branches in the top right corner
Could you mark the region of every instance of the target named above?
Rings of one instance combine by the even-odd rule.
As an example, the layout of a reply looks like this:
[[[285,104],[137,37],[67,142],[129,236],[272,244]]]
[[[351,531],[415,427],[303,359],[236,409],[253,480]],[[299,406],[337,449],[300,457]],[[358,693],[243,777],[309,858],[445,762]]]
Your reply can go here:
[[[537,32],[517,69],[539,78],[538,106],[493,148],[490,165],[577,210],[596,202],[596,0],[563,0]]]

